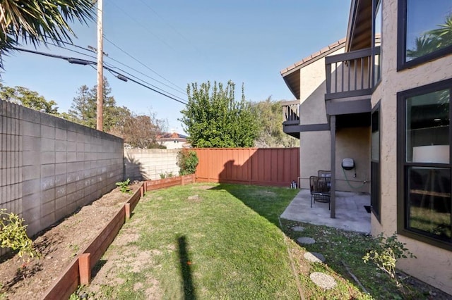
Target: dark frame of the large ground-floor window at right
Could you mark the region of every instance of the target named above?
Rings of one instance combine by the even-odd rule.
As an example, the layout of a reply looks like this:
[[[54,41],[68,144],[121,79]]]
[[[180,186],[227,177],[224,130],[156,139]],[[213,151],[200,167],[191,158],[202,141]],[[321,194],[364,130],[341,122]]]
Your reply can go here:
[[[414,89],[397,93],[397,231],[400,235],[405,235],[406,237],[411,237],[412,239],[417,239],[421,242],[452,251],[452,239],[448,242],[437,239],[433,235],[427,235],[415,229],[408,228],[408,168],[413,164],[415,166],[427,165],[428,167],[432,163],[406,162],[406,101],[410,97],[436,92],[441,89],[449,90],[449,120],[451,120],[452,79],[434,82],[429,85],[415,87]],[[449,163],[441,164],[441,167],[448,168],[449,172],[452,173],[452,123],[449,126],[451,126],[448,133],[450,145]],[[450,201],[452,201],[452,197]]]

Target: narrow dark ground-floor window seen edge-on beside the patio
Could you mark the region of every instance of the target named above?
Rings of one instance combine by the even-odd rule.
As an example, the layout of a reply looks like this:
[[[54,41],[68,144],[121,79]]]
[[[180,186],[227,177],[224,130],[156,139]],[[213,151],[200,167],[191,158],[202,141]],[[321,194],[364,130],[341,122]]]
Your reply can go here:
[[[380,104],[371,113],[371,210],[380,220]]]

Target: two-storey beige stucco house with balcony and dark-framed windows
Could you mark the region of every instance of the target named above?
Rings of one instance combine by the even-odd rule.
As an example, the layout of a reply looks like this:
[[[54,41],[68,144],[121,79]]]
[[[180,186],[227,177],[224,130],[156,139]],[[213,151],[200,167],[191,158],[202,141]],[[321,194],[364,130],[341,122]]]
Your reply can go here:
[[[451,2],[352,0],[348,20],[345,39],[281,71],[300,185],[331,170],[332,218],[335,191],[369,192],[372,235],[397,232],[417,256],[398,268],[452,294]]]

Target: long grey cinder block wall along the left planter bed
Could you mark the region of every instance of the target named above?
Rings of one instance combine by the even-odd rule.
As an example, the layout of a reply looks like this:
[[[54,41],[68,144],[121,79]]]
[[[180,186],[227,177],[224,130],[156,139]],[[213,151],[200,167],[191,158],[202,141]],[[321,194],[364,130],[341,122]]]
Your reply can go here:
[[[34,235],[114,189],[123,140],[0,100],[0,208]]]

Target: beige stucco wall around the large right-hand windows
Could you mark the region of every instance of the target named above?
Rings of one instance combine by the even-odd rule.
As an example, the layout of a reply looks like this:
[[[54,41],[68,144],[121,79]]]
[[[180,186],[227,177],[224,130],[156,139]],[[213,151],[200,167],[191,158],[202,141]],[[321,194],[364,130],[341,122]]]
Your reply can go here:
[[[452,77],[452,55],[400,72],[396,70],[397,1],[383,1],[382,82],[372,95],[372,104],[381,99],[381,223],[372,216],[372,235],[397,230],[397,92]],[[452,294],[452,253],[399,235],[417,259],[402,259],[398,268],[430,285]]]

